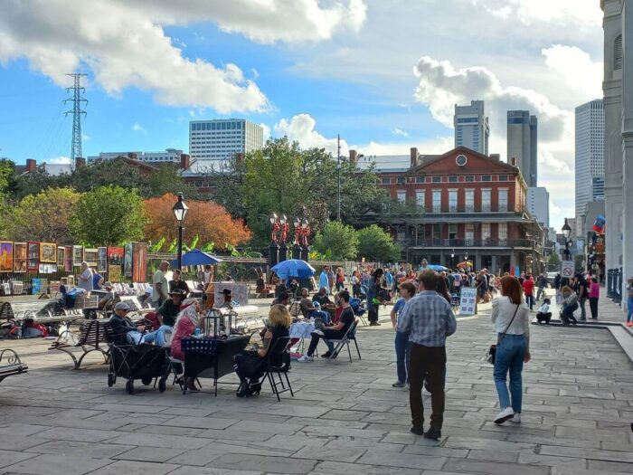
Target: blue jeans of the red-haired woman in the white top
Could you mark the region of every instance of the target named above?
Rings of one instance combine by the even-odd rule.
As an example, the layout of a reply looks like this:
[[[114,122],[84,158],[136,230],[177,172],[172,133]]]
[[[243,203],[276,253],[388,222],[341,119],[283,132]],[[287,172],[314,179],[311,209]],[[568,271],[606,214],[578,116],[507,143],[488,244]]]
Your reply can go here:
[[[505,334],[496,346],[494,375],[496,393],[499,394],[499,406],[502,410],[511,405],[510,394],[512,394],[512,408],[515,413],[521,413],[521,399],[523,397],[521,372],[523,371],[525,345],[524,335]],[[505,384],[508,370],[510,371],[510,394],[508,394],[508,388]]]

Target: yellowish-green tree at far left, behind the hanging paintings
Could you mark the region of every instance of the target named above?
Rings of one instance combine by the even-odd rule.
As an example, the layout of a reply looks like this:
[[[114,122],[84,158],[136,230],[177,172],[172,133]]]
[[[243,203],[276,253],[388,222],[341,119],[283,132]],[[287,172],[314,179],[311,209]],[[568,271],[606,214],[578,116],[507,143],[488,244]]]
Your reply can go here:
[[[72,188],[47,188],[24,196],[10,214],[11,239],[71,243],[68,226],[80,197]]]

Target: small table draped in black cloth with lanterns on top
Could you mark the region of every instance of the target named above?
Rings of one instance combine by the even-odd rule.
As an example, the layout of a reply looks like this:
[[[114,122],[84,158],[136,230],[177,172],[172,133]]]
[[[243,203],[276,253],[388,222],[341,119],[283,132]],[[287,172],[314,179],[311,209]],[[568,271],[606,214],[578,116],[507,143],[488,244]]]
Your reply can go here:
[[[205,352],[184,350],[184,377],[210,377],[213,379],[213,394],[218,395],[218,379],[234,372],[233,356],[239,355],[248,345],[250,335],[218,338],[183,338],[186,340],[213,340],[213,349]],[[186,394],[186,386],[183,394]]]

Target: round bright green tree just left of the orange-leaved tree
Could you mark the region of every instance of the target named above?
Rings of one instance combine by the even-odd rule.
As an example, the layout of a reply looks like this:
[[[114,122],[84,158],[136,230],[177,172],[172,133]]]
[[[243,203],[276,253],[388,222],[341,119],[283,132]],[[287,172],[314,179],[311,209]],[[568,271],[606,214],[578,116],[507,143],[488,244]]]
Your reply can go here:
[[[72,236],[88,246],[116,246],[143,239],[147,222],[136,189],[101,186],[81,196],[71,216]]]

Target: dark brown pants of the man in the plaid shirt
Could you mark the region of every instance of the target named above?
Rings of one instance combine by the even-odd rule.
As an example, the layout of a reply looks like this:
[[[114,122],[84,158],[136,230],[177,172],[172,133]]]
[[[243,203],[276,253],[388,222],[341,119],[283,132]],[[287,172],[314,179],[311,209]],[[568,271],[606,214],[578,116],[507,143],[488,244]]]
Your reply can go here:
[[[444,375],[446,374],[446,347],[422,347],[411,343],[411,373],[409,405],[411,423],[421,429],[424,425],[422,384],[426,381],[430,392],[430,428],[441,430],[444,423]]]

